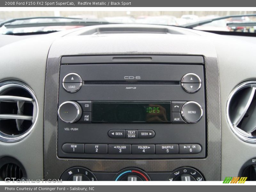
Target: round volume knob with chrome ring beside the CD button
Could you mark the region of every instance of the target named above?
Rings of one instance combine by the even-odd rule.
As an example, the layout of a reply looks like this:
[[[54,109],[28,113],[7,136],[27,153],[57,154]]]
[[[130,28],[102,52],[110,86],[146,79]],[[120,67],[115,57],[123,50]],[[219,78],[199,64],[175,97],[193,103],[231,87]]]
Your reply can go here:
[[[60,105],[58,115],[65,123],[75,123],[82,116],[82,108],[75,101],[66,101]]]

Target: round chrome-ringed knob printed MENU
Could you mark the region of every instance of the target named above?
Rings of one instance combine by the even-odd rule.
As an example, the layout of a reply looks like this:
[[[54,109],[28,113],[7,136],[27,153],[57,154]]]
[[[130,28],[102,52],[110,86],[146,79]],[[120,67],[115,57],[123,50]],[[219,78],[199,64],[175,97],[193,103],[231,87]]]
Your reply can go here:
[[[181,108],[181,116],[187,123],[197,123],[203,116],[203,108],[195,101],[188,101]]]

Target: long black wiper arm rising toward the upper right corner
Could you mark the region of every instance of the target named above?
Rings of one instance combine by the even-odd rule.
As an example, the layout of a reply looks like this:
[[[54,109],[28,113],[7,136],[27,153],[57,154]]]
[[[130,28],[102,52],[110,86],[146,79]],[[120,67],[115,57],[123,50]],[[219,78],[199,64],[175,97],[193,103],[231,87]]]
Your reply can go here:
[[[202,21],[197,21],[197,22],[193,22],[193,23],[188,23],[188,24],[184,24],[184,25],[180,25],[180,27],[185,27],[185,28],[194,28],[197,26],[201,26],[207,23],[211,23],[212,21],[218,21],[218,20],[222,20],[222,19],[228,19],[228,18],[233,18],[233,17],[252,17],[252,16],[256,16],[256,14],[245,14],[245,15],[229,15],[229,16],[223,16],[223,17],[217,17],[217,18],[213,18],[213,19],[208,19],[208,20],[202,20]]]

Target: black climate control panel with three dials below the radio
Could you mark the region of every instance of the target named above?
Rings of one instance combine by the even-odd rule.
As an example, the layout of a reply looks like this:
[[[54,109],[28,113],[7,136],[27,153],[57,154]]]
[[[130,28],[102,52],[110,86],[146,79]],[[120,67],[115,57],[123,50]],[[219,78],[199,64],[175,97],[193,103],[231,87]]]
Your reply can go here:
[[[192,167],[180,167],[172,172],[145,172],[130,167],[119,172],[91,172],[84,167],[66,170],[60,179],[64,181],[204,181],[203,175]]]

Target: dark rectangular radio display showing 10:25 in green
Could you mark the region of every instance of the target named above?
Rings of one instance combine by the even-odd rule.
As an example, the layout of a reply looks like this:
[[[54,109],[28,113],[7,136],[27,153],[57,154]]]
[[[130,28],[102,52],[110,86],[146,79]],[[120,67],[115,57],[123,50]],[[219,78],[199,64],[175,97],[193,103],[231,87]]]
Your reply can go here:
[[[92,101],[92,123],[170,123],[171,101]]]

